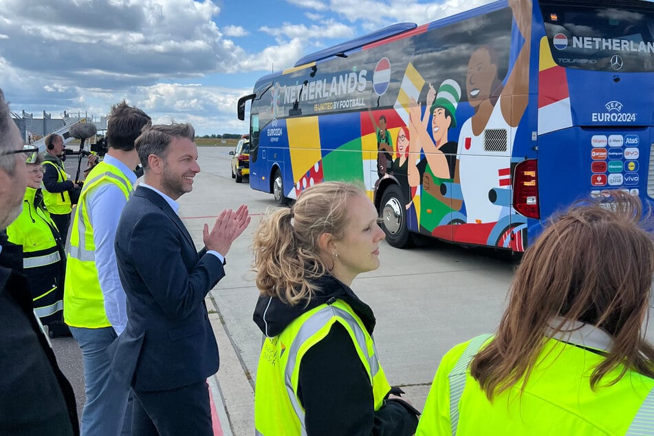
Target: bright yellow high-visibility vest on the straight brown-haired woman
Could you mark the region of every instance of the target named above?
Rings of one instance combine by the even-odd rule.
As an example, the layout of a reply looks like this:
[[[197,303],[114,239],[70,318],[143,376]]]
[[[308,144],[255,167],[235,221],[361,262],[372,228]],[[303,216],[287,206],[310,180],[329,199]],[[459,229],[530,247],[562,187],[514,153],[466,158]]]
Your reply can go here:
[[[618,367],[593,391],[590,377],[604,357],[565,338],[543,338],[523,391],[519,380],[488,401],[469,368],[488,338],[478,336],[446,353],[416,435],[654,435],[654,379],[628,369],[608,385],[620,375]]]

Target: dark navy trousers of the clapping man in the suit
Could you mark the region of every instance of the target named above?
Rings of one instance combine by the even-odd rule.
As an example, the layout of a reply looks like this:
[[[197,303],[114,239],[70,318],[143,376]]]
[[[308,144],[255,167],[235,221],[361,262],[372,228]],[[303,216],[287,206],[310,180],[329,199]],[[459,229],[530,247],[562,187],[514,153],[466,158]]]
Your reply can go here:
[[[213,436],[206,381],[169,391],[135,391],[132,434]]]

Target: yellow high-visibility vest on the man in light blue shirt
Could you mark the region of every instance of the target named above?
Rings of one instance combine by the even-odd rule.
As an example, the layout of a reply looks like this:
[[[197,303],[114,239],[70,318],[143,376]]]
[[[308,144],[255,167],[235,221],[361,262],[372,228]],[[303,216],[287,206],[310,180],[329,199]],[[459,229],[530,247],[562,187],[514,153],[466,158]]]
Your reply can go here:
[[[112,183],[129,198],[132,184],[116,166],[100,162],[86,177],[75,210],[70,234],[64,290],[64,320],[72,327],[99,329],[111,327],[105,311],[105,298],[96,268],[93,224],[89,220],[87,199],[94,188]]]

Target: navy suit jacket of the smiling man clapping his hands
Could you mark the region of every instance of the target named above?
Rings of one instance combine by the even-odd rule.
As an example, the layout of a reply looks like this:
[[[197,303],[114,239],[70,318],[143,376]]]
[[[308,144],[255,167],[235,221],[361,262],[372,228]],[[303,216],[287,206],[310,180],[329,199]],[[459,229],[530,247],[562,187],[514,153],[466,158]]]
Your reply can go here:
[[[127,328],[109,349],[118,380],[164,391],[218,370],[218,346],[204,298],[225,275],[195,251],[182,220],[155,191],[138,186],[116,230],[116,262],[127,294]]]

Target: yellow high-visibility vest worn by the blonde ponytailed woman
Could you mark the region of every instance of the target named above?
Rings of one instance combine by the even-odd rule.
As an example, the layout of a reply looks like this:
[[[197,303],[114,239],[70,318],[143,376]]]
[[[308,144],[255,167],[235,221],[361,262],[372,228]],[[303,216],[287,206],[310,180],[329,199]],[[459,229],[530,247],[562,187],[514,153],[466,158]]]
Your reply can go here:
[[[266,338],[257,367],[254,426],[257,435],[306,435],[305,409],[298,399],[298,376],[305,353],[329,334],[334,323],[345,327],[373,388],[375,411],[391,390],[375,344],[364,324],[344,301],[323,304],[298,316],[274,338]]]

